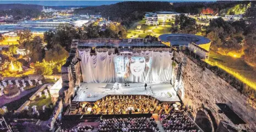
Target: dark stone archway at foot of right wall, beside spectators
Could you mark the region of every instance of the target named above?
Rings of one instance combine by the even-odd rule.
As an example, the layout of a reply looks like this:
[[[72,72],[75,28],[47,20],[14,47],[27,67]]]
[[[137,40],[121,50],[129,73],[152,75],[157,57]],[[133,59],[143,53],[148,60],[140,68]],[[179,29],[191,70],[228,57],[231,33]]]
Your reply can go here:
[[[197,114],[194,118],[194,122],[203,130],[214,132],[216,127],[214,126],[215,121],[213,122],[212,116],[205,108],[197,108]]]

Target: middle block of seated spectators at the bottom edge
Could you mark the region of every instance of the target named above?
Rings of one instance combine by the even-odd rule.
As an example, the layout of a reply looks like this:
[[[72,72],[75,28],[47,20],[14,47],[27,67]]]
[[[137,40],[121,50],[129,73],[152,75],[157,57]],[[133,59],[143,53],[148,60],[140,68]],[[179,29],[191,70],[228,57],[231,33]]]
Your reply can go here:
[[[159,131],[154,118],[101,119],[98,132],[156,132]]]

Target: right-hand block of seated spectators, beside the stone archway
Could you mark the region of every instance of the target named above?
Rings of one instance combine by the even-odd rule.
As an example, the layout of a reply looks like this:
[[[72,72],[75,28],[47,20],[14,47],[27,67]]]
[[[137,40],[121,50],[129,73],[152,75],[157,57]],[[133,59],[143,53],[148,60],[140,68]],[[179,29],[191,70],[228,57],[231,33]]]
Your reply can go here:
[[[184,115],[183,112],[181,113],[165,113],[160,114],[159,119],[162,123],[163,128],[167,132],[173,131],[189,131],[189,132],[197,132],[198,129],[195,124],[190,120],[188,117]]]

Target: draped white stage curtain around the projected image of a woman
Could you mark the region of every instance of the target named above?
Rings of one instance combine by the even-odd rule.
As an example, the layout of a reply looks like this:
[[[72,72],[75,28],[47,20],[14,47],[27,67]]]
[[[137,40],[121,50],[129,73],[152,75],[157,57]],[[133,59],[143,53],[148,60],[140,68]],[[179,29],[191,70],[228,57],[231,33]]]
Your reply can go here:
[[[151,58],[150,68],[140,78],[129,76],[124,79],[118,77],[115,71],[115,54],[97,52],[96,56],[90,56],[90,52],[79,51],[80,66],[84,83],[102,82],[157,82],[170,81],[173,52],[145,51],[130,56],[144,56]]]

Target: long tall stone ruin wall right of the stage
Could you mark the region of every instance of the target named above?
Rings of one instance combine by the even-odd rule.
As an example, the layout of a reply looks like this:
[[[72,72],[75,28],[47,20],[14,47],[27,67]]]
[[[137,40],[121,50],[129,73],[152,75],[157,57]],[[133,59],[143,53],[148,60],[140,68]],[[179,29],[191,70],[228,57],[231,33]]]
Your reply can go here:
[[[216,103],[226,103],[247,123],[236,125],[237,127],[256,129],[255,102],[211,72],[210,69],[200,67],[184,53],[175,52],[175,59],[182,63],[181,81],[175,82],[175,89],[184,91],[182,101],[186,106],[193,108],[194,117],[198,110],[203,110],[209,114],[213,124],[219,124],[220,120],[225,120],[234,125],[224,114],[218,112],[220,108]]]

